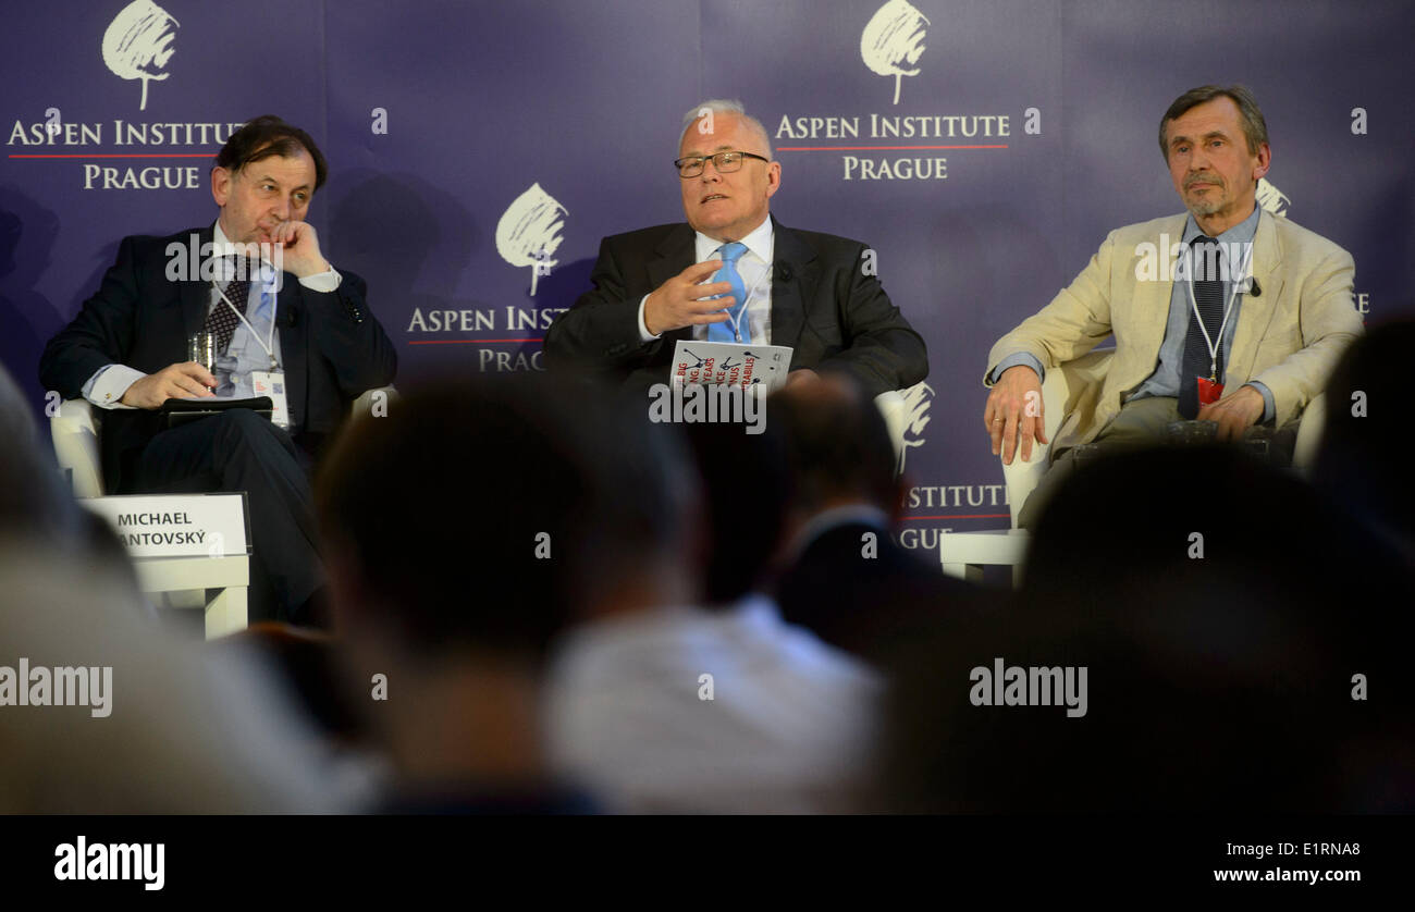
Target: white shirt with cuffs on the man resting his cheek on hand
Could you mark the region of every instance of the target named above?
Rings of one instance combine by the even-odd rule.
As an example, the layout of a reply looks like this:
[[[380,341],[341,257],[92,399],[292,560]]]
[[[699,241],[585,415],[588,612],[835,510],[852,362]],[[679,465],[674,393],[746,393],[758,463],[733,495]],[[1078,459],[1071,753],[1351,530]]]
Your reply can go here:
[[[212,228],[212,256],[219,260],[219,257],[241,253],[233,243],[226,238],[226,232],[221,229],[221,221]],[[265,257],[262,257],[265,260]],[[265,260],[269,262],[269,260]],[[221,260],[216,266],[218,269],[229,269],[229,263]],[[276,276],[277,279],[279,276]],[[259,274],[255,277],[259,279]],[[304,276],[300,279],[300,284],[311,291],[334,291],[340,287],[342,276],[340,276],[334,266],[330,266],[328,271],[316,273],[313,276]],[[255,394],[255,389],[250,380],[252,370],[270,370],[270,353],[266,353],[262,342],[270,345],[270,351],[275,355],[276,363],[280,362],[280,332],[272,332],[270,327],[276,317],[276,294],[279,287],[276,281],[260,283],[258,280],[250,283],[250,294],[246,301],[246,321],[236,325],[236,331],[231,337],[231,345],[226,348],[225,353],[216,359],[215,376],[218,380],[216,394],[224,399],[249,399]],[[209,304],[207,312],[211,312],[212,307],[226,307],[221,294],[215,287],[209,291]],[[249,325],[248,325],[249,324]],[[260,339],[256,339],[256,332]],[[185,342],[184,342],[185,344]],[[188,352],[174,352],[174,363],[177,358],[187,361]],[[147,376],[142,370],[129,368],[127,365],[105,365],[99,368],[93,376],[83,383],[81,390],[83,399],[89,400],[100,409],[132,409],[133,406],[122,404],[123,396],[137,380]]]

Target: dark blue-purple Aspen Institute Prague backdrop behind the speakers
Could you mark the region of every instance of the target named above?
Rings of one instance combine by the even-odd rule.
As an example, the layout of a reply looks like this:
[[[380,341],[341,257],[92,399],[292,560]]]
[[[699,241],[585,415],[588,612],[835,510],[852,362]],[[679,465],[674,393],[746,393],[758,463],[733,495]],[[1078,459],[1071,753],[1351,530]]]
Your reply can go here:
[[[0,355],[37,411],[38,353],[117,240],[209,223],[219,130],[262,113],[323,144],[311,222],[408,379],[538,369],[600,238],[682,218],[683,112],[740,98],[782,163],[773,212],[872,245],[928,342],[911,547],[1007,525],[988,348],[1109,229],[1182,209],[1156,131],[1191,86],[1254,89],[1268,205],[1351,250],[1370,320],[1412,311],[1408,0],[51,0],[4,20]],[[498,246],[518,199],[558,228]]]

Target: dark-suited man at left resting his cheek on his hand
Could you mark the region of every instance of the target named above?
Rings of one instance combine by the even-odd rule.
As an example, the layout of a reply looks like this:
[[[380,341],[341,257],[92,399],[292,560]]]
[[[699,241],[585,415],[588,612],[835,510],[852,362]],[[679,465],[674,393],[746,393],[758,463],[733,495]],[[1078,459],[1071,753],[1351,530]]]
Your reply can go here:
[[[325,174],[304,130],[252,120],[211,170],[215,225],[126,238],[40,361],[47,389],[100,409],[109,493],[249,493],[252,619],[311,619],[310,467],[350,403],[398,368],[364,280],[337,271],[304,221]],[[198,332],[215,337],[214,370],[188,361]],[[276,423],[233,409],[164,430],[166,400],[249,397],[262,380],[284,392]]]

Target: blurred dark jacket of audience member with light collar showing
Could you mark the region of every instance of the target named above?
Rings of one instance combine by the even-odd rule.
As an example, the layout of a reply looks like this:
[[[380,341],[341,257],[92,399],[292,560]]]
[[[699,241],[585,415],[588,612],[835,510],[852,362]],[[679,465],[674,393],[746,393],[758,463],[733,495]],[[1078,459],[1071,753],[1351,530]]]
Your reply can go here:
[[[862,554],[863,534],[877,539],[874,557]],[[815,537],[777,580],[777,604],[788,624],[889,666],[899,650],[938,618],[962,605],[986,604],[982,587],[944,575],[889,533],[848,522]]]

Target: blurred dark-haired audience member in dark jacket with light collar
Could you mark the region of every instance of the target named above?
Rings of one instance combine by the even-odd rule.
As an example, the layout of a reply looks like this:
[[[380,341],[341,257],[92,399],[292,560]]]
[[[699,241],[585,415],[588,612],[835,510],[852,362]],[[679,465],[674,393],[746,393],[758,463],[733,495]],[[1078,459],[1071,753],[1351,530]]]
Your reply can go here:
[[[903,481],[873,400],[845,376],[794,383],[773,396],[767,423],[785,437],[788,567],[777,583],[781,616],[870,659],[918,622],[981,597],[896,544]]]

